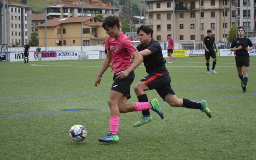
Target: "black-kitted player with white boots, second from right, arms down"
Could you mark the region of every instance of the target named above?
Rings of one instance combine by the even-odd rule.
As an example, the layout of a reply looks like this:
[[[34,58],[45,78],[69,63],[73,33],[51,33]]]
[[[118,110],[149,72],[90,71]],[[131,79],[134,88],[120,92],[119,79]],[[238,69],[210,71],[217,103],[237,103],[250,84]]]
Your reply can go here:
[[[204,47],[204,56],[205,56],[205,59],[206,59],[206,68],[207,68],[207,73],[208,74],[211,73],[209,71],[209,69],[210,69],[210,64],[209,64],[210,57],[213,58],[211,71],[214,72],[214,73],[217,73],[214,70],[217,58],[216,58],[216,53],[214,51],[213,45],[215,46],[216,52],[218,51],[218,48],[217,48],[214,41],[215,41],[214,37],[211,36],[211,30],[207,30],[207,36],[204,37],[203,47]]]

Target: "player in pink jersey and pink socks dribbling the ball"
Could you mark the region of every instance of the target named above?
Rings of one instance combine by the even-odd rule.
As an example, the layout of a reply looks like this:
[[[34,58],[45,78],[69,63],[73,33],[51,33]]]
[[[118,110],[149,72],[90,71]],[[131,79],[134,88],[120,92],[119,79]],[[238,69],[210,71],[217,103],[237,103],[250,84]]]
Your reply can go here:
[[[151,102],[136,102],[127,104],[131,98],[130,86],[134,80],[134,69],[143,61],[136,47],[129,38],[120,30],[120,23],[117,16],[108,16],[103,20],[102,27],[106,30],[108,37],[108,51],[103,62],[94,87],[100,84],[102,75],[108,69],[110,62],[113,63],[113,80],[108,105],[110,107],[110,133],[106,137],[99,138],[100,142],[116,143],[119,141],[118,125],[120,113],[142,111],[152,109],[163,119],[163,111],[157,99]],[[134,57],[131,64],[131,56]]]

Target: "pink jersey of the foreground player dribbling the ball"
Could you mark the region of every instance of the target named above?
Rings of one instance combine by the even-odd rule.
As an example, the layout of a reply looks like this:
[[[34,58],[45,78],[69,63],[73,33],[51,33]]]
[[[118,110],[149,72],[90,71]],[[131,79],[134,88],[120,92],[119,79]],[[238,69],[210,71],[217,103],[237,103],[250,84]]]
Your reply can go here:
[[[131,53],[137,50],[124,33],[117,38],[108,37],[108,49],[111,51],[113,73],[128,69],[131,65]]]

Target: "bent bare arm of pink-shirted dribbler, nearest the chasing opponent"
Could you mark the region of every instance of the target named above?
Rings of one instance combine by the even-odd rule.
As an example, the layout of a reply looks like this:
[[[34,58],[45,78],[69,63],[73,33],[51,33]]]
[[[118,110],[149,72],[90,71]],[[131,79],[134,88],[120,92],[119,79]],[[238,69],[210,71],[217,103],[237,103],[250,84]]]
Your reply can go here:
[[[131,64],[131,66],[128,69],[126,69],[125,71],[116,73],[116,75],[118,75],[116,78],[123,79],[123,78],[127,77],[130,72],[132,72],[135,68],[137,68],[143,62],[143,57],[139,54],[138,50],[132,52],[131,54],[134,57],[134,60]]]

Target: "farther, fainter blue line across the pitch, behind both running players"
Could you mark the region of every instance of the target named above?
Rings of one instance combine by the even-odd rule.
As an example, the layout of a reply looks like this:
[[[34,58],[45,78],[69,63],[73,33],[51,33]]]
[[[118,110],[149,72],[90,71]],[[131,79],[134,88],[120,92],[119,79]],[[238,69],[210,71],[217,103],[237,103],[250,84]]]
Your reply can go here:
[[[250,82],[250,84],[254,84],[254,83],[256,83],[256,82]],[[174,87],[173,89],[219,87],[219,86],[230,86],[230,85],[238,85],[238,84],[240,84],[240,83],[226,83],[226,84],[210,84],[210,85],[201,85],[201,86]],[[98,94],[109,94],[109,92],[96,92],[96,93],[90,93],[90,94],[57,95],[57,96],[40,96],[40,97],[30,97],[30,98],[0,99],[0,101],[36,100],[36,99],[46,99],[46,98],[75,97],[75,96],[98,95]]]

